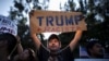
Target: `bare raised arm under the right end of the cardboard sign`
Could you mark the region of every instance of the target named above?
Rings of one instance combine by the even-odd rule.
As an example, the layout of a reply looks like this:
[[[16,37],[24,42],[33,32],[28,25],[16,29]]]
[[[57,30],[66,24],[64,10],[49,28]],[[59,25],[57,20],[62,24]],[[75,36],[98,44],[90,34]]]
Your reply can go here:
[[[70,48],[71,51],[73,51],[73,49],[75,48],[75,46],[77,45],[78,40],[81,39],[82,36],[82,30],[76,30],[76,34],[74,36],[74,38],[72,39],[72,41],[70,42]]]

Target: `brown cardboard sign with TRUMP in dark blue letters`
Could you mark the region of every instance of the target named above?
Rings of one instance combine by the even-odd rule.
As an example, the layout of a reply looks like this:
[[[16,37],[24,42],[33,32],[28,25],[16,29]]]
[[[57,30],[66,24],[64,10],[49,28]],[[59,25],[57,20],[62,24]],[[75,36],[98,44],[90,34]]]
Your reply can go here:
[[[29,23],[32,33],[86,30],[81,12],[32,11]]]

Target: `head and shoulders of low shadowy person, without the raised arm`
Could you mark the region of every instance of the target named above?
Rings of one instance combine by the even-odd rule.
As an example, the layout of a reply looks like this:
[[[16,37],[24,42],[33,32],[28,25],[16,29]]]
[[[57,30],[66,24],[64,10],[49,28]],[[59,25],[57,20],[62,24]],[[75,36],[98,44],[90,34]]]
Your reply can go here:
[[[22,53],[15,56],[13,61],[36,61],[35,52],[33,49],[25,49]]]

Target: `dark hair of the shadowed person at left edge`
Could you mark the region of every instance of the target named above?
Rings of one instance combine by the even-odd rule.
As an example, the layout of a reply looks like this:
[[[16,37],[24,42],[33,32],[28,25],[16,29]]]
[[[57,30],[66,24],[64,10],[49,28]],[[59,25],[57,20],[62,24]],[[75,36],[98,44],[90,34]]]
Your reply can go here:
[[[8,52],[11,53],[11,51],[16,45],[16,38],[12,34],[3,33],[0,34],[0,40],[8,41]]]

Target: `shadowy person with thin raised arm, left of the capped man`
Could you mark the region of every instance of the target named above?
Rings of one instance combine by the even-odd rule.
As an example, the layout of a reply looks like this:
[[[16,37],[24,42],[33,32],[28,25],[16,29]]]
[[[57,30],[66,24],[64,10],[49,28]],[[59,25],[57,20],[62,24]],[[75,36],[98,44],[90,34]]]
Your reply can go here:
[[[31,48],[23,50],[20,37],[17,37],[17,42],[19,42],[17,44],[19,54],[14,57],[13,61],[36,61],[36,56],[34,50]]]

